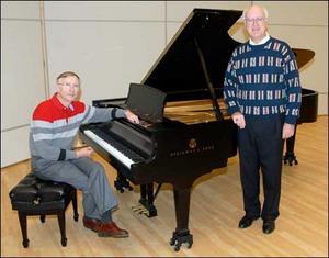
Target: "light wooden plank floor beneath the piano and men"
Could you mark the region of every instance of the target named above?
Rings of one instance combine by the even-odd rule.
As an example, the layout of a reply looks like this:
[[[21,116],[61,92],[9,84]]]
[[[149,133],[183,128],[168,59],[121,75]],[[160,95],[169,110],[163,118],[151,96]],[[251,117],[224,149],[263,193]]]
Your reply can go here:
[[[225,146],[223,146],[225,148]],[[5,256],[79,256],[79,257],[328,257],[328,116],[297,128],[295,152],[299,164],[283,166],[281,215],[276,229],[262,233],[258,220],[250,228],[239,229],[243,215],[238,158],[229,159],[224,169],[201,177],[193,186],[190,231],[194,244],[175,253],[169,239],[175,228],[173,194],[163,184],[156,199],[159,215],[147,218],[132,212],[139,198],[134,191],[118,193],[117,224],[129,231],[129,238],[100,238],[82,226],[81,193],[78,195],[80,218],[72,220],[72,207],[66,213],[66,247],[60,245],[57,218],[27,218],[29,248],[23,248],[16,211],[12,211],[9,191],[29,172],[29,160],[1,169],[1,257]],[[115,171],[94,155],[106,168],[113,186]]]

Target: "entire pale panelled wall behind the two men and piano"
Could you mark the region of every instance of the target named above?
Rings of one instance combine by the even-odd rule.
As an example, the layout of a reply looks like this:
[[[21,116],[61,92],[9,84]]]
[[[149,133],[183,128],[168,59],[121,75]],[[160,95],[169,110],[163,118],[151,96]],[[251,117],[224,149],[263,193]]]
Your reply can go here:
[[[125,97],[140,81],[193,8],[243,10],[256,1],[1,1],[1,167],[30,157],[30,116],[54,93],[56,76],[77,71],[82,97]],[[316,52],[302,70],[328,114],[328,3],[263,1],[271,35]],[[241,21],[229,34],[246,41]]]

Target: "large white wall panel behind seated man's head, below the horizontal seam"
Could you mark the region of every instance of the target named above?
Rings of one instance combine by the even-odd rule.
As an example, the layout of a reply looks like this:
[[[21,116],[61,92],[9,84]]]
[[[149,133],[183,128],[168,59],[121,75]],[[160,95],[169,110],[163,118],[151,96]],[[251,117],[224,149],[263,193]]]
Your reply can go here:
[[[140,82],[164,48],[162,23],[47,22],[50,92],[64,70],[82,79],[81,99],[126,97],[129,82]],[[64,30],[65,27],[65,30]]]

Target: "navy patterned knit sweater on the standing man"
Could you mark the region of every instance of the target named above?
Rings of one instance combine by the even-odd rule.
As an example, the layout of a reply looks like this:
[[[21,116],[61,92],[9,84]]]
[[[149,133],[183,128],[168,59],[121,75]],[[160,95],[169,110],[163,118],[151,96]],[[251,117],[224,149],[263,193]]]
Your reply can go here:
[[[291,47],[270,37],[261,45],[239,45],[228,63],[224,81],[228,113],[264,117],[285,113],[295,124],[300,109],[298,67]]]

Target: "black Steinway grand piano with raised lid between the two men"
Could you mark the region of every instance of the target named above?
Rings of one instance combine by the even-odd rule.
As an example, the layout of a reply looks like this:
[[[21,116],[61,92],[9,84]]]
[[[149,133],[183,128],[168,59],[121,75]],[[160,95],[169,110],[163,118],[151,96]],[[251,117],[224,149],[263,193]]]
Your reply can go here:
[[[160,186],[173,186],[174,250],[193,244],[189,231],[193,182],[227,166],[237,154],[237,127],[227,114],[223,85],[228,59],[240,44],[228,30],[241,14],[194,9],[140,85],[131,85],[127,98],[93,101],[94,106],[129,108],[141,117],[140,124],[116,119],[80,127],[82,141],[117,169],[118,190],[131,189],[128,181],[140,184],[139,203],[148,216],[157,215],[154,201]],[[155,192],[154,183],[158,183]]]

